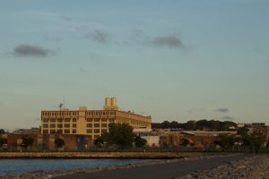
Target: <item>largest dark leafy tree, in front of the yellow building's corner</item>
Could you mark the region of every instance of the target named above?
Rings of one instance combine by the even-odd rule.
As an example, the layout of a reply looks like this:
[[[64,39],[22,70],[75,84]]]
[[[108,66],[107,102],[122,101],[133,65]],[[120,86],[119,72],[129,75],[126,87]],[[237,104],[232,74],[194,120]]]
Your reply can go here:
[[[128,124],[109,124],[107,133],[103,133],[94,144],[117,145],[119,148],[130,148],[133,144],[133,127]]]

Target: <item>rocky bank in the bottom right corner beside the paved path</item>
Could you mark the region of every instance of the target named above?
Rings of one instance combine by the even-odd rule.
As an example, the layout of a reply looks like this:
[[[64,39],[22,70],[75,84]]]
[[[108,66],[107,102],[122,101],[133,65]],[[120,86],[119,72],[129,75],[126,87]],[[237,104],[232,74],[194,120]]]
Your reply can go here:
[[[197,171],[174,179],[268,179],[269,155],[257,155],[217,166],[210,170]]]

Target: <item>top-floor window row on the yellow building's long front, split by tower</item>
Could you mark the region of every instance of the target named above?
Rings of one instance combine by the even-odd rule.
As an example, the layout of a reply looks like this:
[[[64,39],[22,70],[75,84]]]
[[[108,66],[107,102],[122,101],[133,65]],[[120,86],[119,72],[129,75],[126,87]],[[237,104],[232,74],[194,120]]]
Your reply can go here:
[[[79,115],[78,111],[42,112],[44,116]],[[86,115],[115,115],[115,111],[87,111]]]

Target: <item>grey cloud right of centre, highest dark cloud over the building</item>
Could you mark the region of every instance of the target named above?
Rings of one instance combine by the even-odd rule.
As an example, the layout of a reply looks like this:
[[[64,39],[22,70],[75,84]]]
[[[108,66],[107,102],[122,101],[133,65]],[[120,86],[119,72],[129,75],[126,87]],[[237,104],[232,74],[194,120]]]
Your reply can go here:
[[[183,43],[176,35],[153,38],[152,44],[159,47],[184,47]]]

